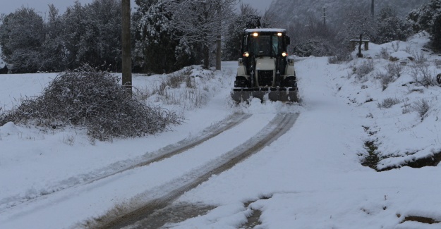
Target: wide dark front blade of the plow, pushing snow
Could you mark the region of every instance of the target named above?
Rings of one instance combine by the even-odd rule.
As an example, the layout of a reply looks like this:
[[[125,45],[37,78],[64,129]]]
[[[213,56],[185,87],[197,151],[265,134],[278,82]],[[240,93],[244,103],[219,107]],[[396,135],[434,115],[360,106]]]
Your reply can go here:
[[[251,97],[263,100],[266,95],[270,101],[298,102],[298,92],[294,87],[234,88],[231,92],[231,98],[236,102],[246,101]]]

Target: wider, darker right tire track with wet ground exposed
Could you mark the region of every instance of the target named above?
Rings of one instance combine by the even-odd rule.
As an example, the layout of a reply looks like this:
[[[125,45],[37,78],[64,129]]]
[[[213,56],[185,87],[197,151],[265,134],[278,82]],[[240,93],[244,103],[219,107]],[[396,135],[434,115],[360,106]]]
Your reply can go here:
[[[182,180],[184,180],[184,182],[181,186],[174,190],[170,190],[166,194],[162,194],[159,198],[150,200],[150,202],[147,202],[136,209],[113,209],[109,211],[107,215],[95,218],[95,222],[89,221],[85,225],[88,225],[88,227],[91,226],[91,228],[124,228],[127,226],[128,228],[142,227],[142,223],[140,224],[140,222],[146,221],[145,218],[155,211],[169,206],[174,200],[181,197],[182,194],[207,181],[212,175],[222,173],[229,168],[232,168],[237,163],[270,145],[291,129],[297,118],[298,114],[294,113],[279,114],[275,116],[274,119],[258,133],[258,135],[250,138],[250,140],[244,142],[241,146],[220,156],[219,159],[207,163],[205,166],[198,169],[199,172],[183,175]],[[176,182],[176,180],[171,182]],[[164,184],[162,187],[167,187],[169,185],[170,184]],[[164,189],[159,188],[159,190]],[[185,215],[185,213],[183,214]],[[167,221],[164,221],[164,223],[167,223]]]

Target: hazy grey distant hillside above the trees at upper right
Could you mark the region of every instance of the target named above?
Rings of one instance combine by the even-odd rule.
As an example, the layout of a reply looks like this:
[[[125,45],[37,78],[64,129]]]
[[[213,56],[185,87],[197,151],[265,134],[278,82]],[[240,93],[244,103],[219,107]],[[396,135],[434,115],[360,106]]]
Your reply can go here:
[[[350,8],[363,7],[370,12],[371,1],[354,0],[274,0],[270,6],[270,11],[274,13],[279,21],[300,20],[306,21],[310,16],[322,17],[323,7],[327,7],[327,21],[339,23],[345,15],[345,11]],[[389,5],[397,11],[397,15],[405,18],[407,13],[413,8],[418,8],[421,4],[428,3],[429,0],[382,0],[375,1],[375,13]]]

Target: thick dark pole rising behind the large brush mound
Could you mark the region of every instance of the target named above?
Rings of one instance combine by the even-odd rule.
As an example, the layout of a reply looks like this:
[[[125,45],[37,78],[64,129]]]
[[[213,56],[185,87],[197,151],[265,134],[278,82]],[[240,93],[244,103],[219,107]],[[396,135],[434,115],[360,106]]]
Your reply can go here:
[[[123,67],[123,86],[127,87],[127,92],[132,94],[132,54],[131,54],[131,0],[122,0],[122,67]]]

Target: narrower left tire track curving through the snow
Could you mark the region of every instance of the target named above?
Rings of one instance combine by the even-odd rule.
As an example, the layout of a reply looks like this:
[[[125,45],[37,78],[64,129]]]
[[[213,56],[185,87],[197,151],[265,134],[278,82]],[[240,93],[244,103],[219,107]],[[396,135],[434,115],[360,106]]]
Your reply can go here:
[[[157,161],[162,161],[164,159],[167,159],[171,156],[175,156],[177,154],[181,154],[183,151],[186,151],[188,149],[191,149],[193,147],[196,147],[198,144],[202,144],[203,142],[210,140],[213,137],[216,137],[217,135],[221,134],[222,132],[229,130],[231,128],[234,128],[236,125],[242,123],[244,120],[250,118],[250,114],[234,114],[232,116],[229,116],[228,118],[225,118],[224,120],[220,121],[219,123],[215,125],[211,125],[210,127],[203,130],[203,132],[200,132],[197,137],[193,137],[190,140],[181,140],[180,142],[177,142],[176,144],[171,144],[167,147],[164,147],[162,149],[157,150],[156,154],[153,156],[149,156],[147,159],[144,159],[140,163],[130,163],[126,161],[119,161],[116,163],[113,163],[112,165],[116,165],[117,163],[128,163],[128,166],[122,166],[123,168],[115,169],[114,166],[108,166],[107,168],[102,168],[102,170],[107,171],[104,175],[79,175],[80,178],[68,178],[66,180],[61,180],[60,182],[57,182],[56,185],[51,187],[52,192],[48,193],[42,193],[37,197],[33,198],[20,198],[20,197],[8,197],[3,202],[0,199],[0,205],[6,205],[8,203],[13,203],[11,207],[6,207],[4,209],[0,209],[0,212],[5,209],[11,209],[15,206],[18,206],[20,204],[28,203],[28,202],[35,202],[38,199],[42,197],[47,197],[51,194],[54,194],[56,192],[59,192],[61,190],[66,190],[68,188],[72,187],[80,187],[82,185],[87,185],[92,182],[95,182],[97,180],[102,180],[104,178],[109,178],[113,175],[123,173],[124,171],[129,171],[134,168],[139,168],[142,166],[148,166],[150,163],[155,163]],[[121,167],[121,166],[119,166]],[[72,181],[75,180],[75,181]],[[79,181],[83,180],[83,181]]]

